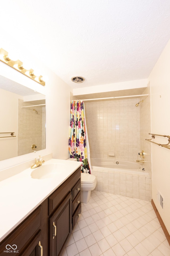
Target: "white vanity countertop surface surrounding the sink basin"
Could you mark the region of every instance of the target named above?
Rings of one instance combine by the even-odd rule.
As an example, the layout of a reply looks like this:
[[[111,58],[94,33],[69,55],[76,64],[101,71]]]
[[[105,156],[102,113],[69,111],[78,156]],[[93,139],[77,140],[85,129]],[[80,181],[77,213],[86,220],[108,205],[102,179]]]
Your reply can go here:
[[[50,159],[44,165],[56,161],[63,163],[65,170],[54,178],[33,179],[35,169],[28,168],[0,182],[0,242],[82,164]]]

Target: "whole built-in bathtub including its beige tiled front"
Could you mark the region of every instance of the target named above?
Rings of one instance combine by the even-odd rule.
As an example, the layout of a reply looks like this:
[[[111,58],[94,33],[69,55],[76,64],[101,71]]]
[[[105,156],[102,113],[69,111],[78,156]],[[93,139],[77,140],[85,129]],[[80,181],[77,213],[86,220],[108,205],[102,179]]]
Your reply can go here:
[[[151,201],[151,177],[143,163],[90,158],[95,190]]]

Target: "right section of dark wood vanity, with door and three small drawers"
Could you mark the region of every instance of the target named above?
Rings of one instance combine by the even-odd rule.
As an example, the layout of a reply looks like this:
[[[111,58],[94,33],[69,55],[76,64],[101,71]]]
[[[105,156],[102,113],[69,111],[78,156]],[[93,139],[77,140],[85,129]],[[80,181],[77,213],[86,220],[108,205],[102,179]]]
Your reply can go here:
[[[49,197],[49,256],[60,256],[66,246],[81,213],[80,191],[81,169],[79,167]],[[56,226],[56,236],[54,236],[54,226]]]

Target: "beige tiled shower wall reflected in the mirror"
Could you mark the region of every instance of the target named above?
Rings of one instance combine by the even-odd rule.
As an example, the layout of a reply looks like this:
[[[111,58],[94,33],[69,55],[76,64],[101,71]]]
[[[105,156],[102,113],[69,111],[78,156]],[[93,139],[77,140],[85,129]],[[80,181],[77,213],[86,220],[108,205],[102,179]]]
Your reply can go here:
[[[45,106],[22,108],[31,105],[18,100],[18,155],[31,153],[32,144],[36,151],[45,149]]]

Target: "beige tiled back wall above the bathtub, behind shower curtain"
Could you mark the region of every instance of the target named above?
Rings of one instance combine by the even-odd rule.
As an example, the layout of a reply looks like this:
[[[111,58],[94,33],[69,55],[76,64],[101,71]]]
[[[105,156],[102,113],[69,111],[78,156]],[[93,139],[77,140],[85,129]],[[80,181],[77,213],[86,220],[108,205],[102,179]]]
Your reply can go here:
[[[91,157],[134,160],[140,152],[139,98],[85,102]],[[108,151],[115,151],[109,156]]]

